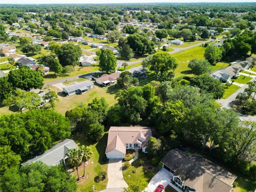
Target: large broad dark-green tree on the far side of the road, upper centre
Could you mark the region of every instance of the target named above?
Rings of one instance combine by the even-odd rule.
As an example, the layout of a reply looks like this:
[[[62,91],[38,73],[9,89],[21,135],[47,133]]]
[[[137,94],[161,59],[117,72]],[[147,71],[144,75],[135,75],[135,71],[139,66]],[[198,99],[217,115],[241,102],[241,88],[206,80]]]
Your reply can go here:
[[[127,37],[127,44],[129,44],[131,49],[139,55],[155,53],[154,43],[151,42],[148,37],[140,34],[129,35]]]

